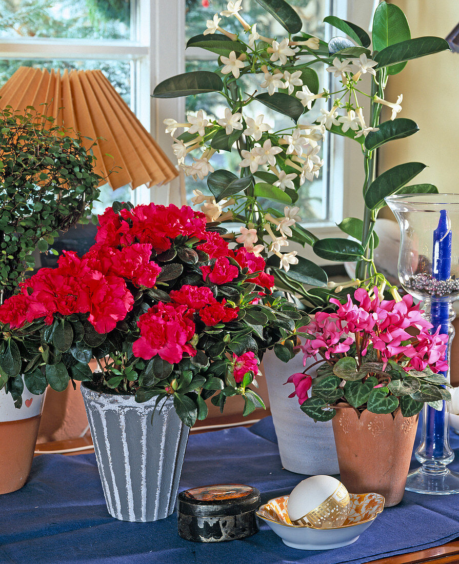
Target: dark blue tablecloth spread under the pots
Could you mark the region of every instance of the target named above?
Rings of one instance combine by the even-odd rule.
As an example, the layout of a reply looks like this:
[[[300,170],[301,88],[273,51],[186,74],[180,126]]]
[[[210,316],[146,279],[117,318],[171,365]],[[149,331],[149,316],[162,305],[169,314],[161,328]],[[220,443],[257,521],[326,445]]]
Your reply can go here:
[[[459,437],[452,435],[459,449]],[[459,470],[459,461],[451,464]],[[303,479],[283,470],[271,417],[250,429],[232,428],[189,438],[180,490],[240,482],[262,501],[289,493]],[[459,494],[405,492],[356,543],[321,552],[283,544],[263,523],[258,534],[226,543],[192,543],[179,537],[176,514],[153,523],[117,521],[107,513],[94,455],[42,455],[28,483],[0,496],[1,563],[129,564],[361,564],[444,544],[459,536]]]

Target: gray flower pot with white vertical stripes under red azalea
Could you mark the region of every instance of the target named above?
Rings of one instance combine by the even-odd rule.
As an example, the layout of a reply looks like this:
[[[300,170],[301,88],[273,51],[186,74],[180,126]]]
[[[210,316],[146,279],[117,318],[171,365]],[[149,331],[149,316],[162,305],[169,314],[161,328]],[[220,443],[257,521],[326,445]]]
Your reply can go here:
[[[81,393],[108,512],[121,521],[157,521],[174,511],[189,427],[171,397]]]

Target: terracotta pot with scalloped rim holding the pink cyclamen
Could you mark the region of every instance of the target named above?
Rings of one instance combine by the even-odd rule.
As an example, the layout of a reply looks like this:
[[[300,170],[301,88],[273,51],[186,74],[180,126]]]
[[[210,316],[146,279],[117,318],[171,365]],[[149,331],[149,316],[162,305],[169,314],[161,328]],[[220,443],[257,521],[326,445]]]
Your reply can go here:
[[[403,497],[418,421],[400,409],[394,416],[346,408],[332,420],[341,482],[351,493],[380,493],[386,507]]]

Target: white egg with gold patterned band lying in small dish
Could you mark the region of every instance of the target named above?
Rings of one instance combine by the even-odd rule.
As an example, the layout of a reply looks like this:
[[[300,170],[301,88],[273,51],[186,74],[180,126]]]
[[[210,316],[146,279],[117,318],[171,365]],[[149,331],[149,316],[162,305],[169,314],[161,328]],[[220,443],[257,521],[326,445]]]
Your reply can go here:
[[[321,506],[326,500],[328,503]],[[294,523],[297,525],[339,527],[347,517],[349,501],[345,486],[336,478],[311,476],[300,482],[290,493],[287,512],[290,521],[297,521]],[[302,521],[298,522],[299,519]]]

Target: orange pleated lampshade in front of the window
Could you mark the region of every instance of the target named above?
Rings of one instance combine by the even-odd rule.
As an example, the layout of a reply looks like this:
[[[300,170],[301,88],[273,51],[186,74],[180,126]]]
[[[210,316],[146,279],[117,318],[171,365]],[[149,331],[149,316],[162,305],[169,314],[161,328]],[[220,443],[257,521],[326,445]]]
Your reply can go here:
[[[178,172],[155,139],[140,124],[100,70],[51,70],[20,67],[0,89],[0,108],[27,106],[56,118],[58,125],[83,137],[92,152],[95,171],[113,190],[130,184],[155,186],[170,182]],[[47,108],[41,104],[46,103]],[[71,132],[67,133],[72,135]]]

